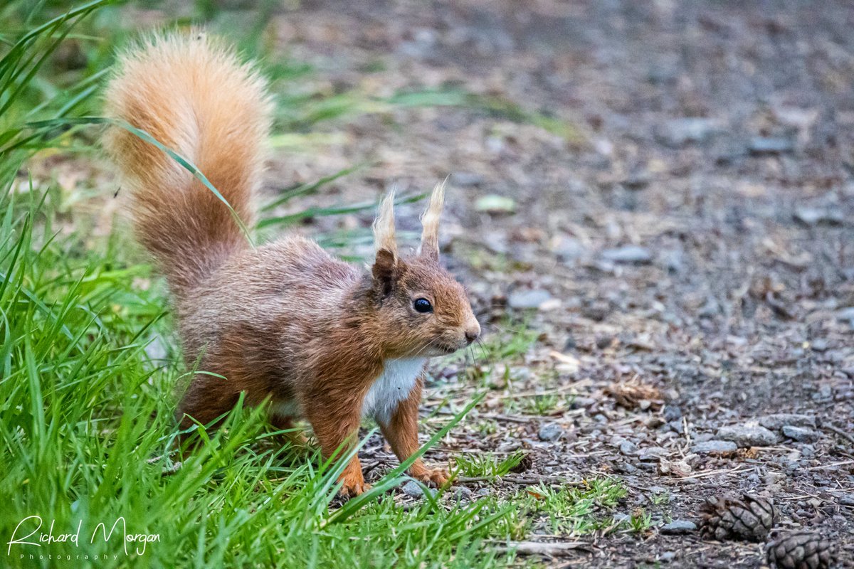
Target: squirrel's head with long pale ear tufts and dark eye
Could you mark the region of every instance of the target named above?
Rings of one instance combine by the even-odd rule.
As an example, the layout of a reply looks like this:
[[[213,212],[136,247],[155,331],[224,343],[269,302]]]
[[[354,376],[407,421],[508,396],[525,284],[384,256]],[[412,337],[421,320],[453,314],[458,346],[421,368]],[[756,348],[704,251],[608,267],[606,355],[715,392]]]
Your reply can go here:
[[[394,192],[383,200],[374,222],[377,258],[371,267],[371,287],[389,357],[442,356],[480,336],[465,289],[439,264],[444,200],[442,183],[433,190],[421,216],[421,246],[406,258],[397,252]]]

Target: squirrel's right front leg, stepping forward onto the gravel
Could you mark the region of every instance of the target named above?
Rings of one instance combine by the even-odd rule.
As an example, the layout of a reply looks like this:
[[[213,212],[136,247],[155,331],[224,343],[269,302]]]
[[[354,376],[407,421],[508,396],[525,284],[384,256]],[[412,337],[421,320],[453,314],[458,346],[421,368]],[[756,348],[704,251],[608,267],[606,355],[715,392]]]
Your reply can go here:
[[[389,441],[395,456],[403,462],[418,450],[418,404],[421,403],[421,388],[424,379],[418,378],[409,397],[397,405],[397,409],[389,417],[389,421],[377,421],[383,436]],[[409,467],[409,475],[424,483],[442,486],[447,482],[447,469],[428,468],[424,461],[418,458]]]

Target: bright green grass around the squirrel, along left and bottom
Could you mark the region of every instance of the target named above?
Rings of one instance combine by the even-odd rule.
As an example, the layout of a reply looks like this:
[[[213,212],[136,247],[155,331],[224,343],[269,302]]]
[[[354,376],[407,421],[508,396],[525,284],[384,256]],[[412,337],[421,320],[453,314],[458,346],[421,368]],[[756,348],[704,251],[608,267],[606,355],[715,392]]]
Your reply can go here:
[[[272,42],[265,11],[276,4],[261,2],[240,25],[217,3],[197,8],[214,31],[231,34],[246,54],[263,56]],[[120,5],[67,9],[65,3],[23,0],[0,7],[6,24],[0,31],[0,534],[4,542],[13,534],[34,541],[41,533],[56,538],[79,527],[79,540],[43,547],[7,543],[0,566],[534,564],[488,543],[524,538],[545,511],[541,504],[523,507],[494,496],[458,503],[440,493],[403,506],[393,490],[402,481],[400,468],[386,473],[370,495],[341,504],[335,496],[343,462],[282,444],[257,410],[238,406],[219,430],[200,429],[204,442],[195,453],[173,454],[176,392],[189,372],[175,347],[164,287],[140,262],[130,235],[92,235],[87,228],[94,222],[78,211],[101,208],[114,189],[89,180],[68,189],[27,174],[47,154],[85,161],[97,153],[97,91],[114,48],[132,37],[121,26]],[[61,55],[69,46],[78,55]],[[291,142],[307,140],[323,121],[439,104],[480,105],[566,134],[556,119],[498,100],[476,105],[459,93],[377,101],[355,92],[300,92],[296,79],[313,69],[286,56],[267,58],[264,72],[280,94],[278,135],[288,130]],[[283,188],[265,208],[264,224],[280,229],[339,213],[332,206],[296,217],[276,210],[350,173]],[[325,235],[320,241],[336,246],[352,239]],[[484,349],[494,362],[512,359],[535,338],[524,329]],[[431,426],[429,444],[454,421]],[[500,476],[521,460],[485,456],[468,462],[465,472]],[[37,518],[22,522],[28,516],[38,516],[41,527]],[[109,532],[116,520],[124,525],[105,540],[98,524]],[[122,543],[125,530],[156,538],[143,551],[143,543]]]

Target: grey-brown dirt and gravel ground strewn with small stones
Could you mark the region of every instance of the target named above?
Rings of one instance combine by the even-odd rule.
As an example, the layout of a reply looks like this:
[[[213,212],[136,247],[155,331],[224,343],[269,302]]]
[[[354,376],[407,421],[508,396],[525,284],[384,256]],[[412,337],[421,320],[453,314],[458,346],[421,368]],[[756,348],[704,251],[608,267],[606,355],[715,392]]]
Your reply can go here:
[[[629,486],[623,510],[652,514],[640,535],[582,538],[549,565],[758,566],[761,544],[654,526],[749,491],[773,499],[779,529],[819,531],[854,566],[854,4],[332,4],[273,22],[321,87],[451,85],[547,118],[399,108],[354,119],[321,159],[272,165],[271,190],[374,162],[295,208],[450,173],[445,258],[485,341],[508,322],[539,334],[480,409],[498,431],[459,427],[432,456],[528,449],[515,481],[469,487],[613,474]],[[496,195],[512,203],[479,201]],[[417,213],[401,208],[401,227]],[[425,411],[470,397],[462,375]],[[505,409],[534,393],[570,397]],[[367,465],[386,461],[369,445]]]

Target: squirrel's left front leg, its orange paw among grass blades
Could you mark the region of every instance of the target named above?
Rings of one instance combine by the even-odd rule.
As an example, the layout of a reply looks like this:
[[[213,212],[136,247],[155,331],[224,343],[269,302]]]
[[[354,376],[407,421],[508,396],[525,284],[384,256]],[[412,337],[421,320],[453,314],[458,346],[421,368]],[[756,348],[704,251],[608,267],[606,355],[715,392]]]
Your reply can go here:
[[[348,394],[349,395],[349,394]],[[326,394],[322,398],[314,398],[305,404],[305,415],[312,424],[314,436],[320,443],[320,450],[325,458],[329,458],[339,448],[346,453],[352,449],[359,435],[361,421],[361,400],[353,397],[335,398]],[[354,455],[338,481],[342,482],[341,496],[359,496],[362,492],[371,490],[362,474],[359,456]]]

